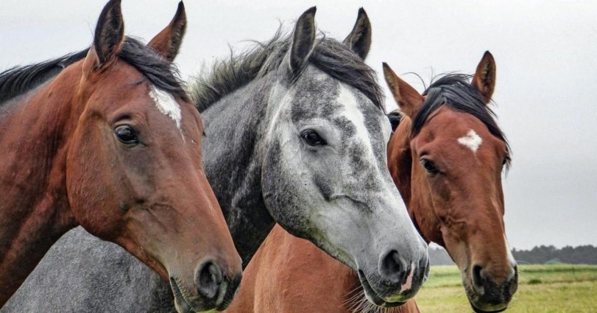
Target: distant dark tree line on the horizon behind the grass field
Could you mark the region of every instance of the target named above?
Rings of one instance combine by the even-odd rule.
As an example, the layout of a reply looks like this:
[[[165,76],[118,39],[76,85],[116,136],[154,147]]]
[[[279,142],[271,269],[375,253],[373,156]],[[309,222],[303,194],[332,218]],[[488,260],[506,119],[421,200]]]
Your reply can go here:
[[[592,264],[597,265],[597,247],[592,245],[557,249],[554,246],[536,246],[531,250],[513,249],[512,255],[520,264]],[[442,247],[430,247],[431,265],[454,265]]]

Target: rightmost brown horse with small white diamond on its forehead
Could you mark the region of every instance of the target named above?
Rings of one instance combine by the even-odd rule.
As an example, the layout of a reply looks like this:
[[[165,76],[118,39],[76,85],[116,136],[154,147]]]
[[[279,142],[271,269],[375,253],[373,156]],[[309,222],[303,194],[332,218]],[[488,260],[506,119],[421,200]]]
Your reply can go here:
[[[518,272],[503,222],[501,173],[509,147],[487,107],[494,59],[485,52],[472,82],[447,75],[423,95],[387,64],[383,68],[402,111],[388,144],[389,169],[411,218],[427,241],[445,247],[456,261],[472,308],[503,311]],[[227,312],[377,311],[353,271],[281,227],[245,269],[236,299]],[[418,312],[414,300],[387,310]]]

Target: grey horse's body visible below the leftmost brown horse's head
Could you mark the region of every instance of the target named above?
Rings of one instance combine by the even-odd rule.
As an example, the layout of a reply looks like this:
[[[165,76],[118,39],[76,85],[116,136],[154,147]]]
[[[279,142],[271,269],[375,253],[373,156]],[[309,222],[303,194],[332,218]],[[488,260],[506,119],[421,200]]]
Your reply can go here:
[[[77,227],[51,247],[0,312],[175,311],[166,281],[121,247]]]

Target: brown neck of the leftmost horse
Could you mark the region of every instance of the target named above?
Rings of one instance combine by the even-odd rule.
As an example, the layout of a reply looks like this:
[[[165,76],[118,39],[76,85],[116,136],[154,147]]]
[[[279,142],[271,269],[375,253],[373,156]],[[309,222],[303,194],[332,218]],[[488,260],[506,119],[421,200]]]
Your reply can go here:
[[[73,94],[81,76],[65,72],[0,120],[0,306],[75,226],[66,194],[64,134],[75,127]]]

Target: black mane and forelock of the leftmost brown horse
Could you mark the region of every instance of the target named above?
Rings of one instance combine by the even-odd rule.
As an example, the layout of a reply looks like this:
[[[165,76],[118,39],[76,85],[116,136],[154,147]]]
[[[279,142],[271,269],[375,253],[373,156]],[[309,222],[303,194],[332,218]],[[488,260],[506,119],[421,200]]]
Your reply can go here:
[[[88,51],[89,48],[54,60],[12,67],[0,73],[0,106],[53,79],[70,64],[85,58]],[[118,57],[139,70],[156,88],[187,100],[188,97],[176,67],[138,39],[125,38]]]

